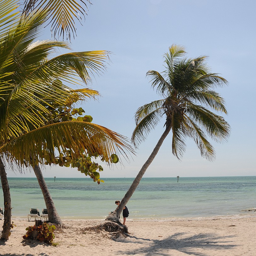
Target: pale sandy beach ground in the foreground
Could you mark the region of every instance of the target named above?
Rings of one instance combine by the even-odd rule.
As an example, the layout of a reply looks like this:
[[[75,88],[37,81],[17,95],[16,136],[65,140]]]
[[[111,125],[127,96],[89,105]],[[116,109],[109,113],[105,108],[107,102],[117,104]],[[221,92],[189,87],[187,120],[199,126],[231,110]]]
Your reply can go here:
[[[256,255],[256,218],[225,218],[175,221],[132,221],[127,237],[113,239],[107,232],[84,232],[96,220],[65,220],[66,228],[55,233],[50,246],[24,241],[26,227],[34,222],[14,220],[17,225],[8,241],[0,241],[0,255]],[[0,220],[2,226],[3,220]]]

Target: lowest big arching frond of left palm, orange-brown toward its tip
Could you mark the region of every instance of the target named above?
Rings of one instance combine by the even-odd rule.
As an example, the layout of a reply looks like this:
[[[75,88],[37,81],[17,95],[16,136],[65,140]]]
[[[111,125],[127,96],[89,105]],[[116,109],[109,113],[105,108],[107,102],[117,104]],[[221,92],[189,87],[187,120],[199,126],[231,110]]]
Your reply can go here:
[[[56,123],[30,131],[2,145],[0,152],[8,162],[34,166],[54,161],[56,148],[59,154],[71,153],[74,158],[80,156],[81,149],[90,154],[97,152],[108,163],[113,153],[125,157],[127,152],[134,153],[124,136],[100,125],[79,121]]]

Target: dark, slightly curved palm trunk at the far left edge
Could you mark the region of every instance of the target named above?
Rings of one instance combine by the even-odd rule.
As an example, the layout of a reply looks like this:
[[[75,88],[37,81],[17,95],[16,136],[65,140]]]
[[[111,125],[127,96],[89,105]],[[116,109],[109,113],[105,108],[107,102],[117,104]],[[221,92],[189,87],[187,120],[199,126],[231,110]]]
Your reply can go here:
[[[3,231],[1,240],[8,240],[9,234],[11,230],[11,216],[12,216],[12,208],[11,208],[11,195],[9,184],[4,168],[4,164],[2,158],[0,157],[0,177],[3,188],[3,202],[4,202],[4,221],[3,221]]]

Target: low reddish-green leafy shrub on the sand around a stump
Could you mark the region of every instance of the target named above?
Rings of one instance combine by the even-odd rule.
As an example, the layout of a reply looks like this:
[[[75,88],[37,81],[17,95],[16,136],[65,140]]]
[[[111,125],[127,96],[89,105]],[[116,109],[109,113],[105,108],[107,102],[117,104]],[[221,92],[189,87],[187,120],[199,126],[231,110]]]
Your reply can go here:
[[[34,232],[37,232],[36,240],[40,242],[45,242],[48,244],[52,244],[55,235],[53,234],[55,230],[54,225],[48,225],[47,223],[43,223],[38,227],[29,226],[26,228],[27,232],[26,235],[23,236],[23,239],[33,239]]]

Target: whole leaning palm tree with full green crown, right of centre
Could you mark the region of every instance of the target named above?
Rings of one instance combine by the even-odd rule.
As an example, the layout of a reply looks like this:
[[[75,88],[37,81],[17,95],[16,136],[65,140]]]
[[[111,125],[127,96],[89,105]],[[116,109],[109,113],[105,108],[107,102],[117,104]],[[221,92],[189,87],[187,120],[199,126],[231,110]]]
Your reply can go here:
[[[166,118],[165,131],[119,207],[107,219],[118,220],[117,216],[131,198],[170,131],[172,131],[172,154],[178,159],[181,159],[185,151],[186,137],[195,141],[201,156],[208,160],[214,160],[215,152],[212,144],[207,140],[207,135],[216,142],[223,142],[229,137],[229,124],[216,114],[218,112],[227,114],[224,99],[213,90],[216,86],[227,84],[227,81],[217,73],[209,71],[205,62],[206,56],[182,59],[184,54],[185,49],[182,46],[173,44],[169,52],[164,55],[166,71],[162,74],[153,70],[147,72],[153,89],[156,88],[162,99],[137,109],[136,128],[131,140],[137,147],[163,116]]]

